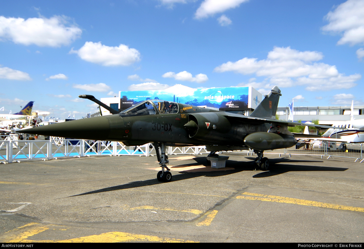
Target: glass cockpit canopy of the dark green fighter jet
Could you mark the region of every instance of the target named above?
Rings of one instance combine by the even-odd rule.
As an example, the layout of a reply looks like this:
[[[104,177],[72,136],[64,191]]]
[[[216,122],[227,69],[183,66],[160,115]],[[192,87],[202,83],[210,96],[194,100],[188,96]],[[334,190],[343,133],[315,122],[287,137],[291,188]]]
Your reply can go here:
[[[170,114],[178,112],[178,104],[165,100],[145,100],[120,112],[120,116]]]

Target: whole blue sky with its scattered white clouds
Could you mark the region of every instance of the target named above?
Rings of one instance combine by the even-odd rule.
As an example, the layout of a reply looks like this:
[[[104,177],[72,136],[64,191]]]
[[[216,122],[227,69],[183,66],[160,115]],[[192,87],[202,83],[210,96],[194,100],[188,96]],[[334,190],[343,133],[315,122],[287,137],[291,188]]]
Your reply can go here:
[[[75,118],[118,91],[274,85],[363,105],[364,1],[2,1],[0,107]]]

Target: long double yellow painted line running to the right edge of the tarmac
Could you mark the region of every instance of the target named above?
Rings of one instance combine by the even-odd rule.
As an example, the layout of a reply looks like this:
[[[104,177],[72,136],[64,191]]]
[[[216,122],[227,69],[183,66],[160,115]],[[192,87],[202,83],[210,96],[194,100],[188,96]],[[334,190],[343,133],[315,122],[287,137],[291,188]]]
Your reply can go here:
[[[237,199],[258,200],[258,201],[272,201],[272,202],[280,202],[280,203],[291,203],[291,204],[304,205],[304,206],[315,206],[315,207],[321,207],[321,208],[332,208],[332,209],[364,212],[364,208],[359,208],[359,207],[337,205],[337,204],[317,202],[317,201],[308,201],[308,200],[303,200],[303,199],[281,197],[281,196],[276,196],[276,195],[264,195],[264,194],[248,193],[248,192],[244,192],[242,194],[252,195],[252,196],[239,195],[236,198]],[[257,196],[257,197],[253,197],[253,196]]]

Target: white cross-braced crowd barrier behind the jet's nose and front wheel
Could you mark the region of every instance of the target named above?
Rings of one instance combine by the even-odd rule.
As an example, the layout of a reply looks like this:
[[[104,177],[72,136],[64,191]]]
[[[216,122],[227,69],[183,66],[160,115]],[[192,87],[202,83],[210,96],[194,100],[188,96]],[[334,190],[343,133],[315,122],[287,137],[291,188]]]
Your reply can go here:
[[[205,146],[167,147],[167,154],[209,153]],[[4,135],[0,140],[0,163],[28,160],[50,160],[59,157],[90,157],[98,155],[155,155],[151,143],[126,146],[114,141],[90,141],[51,137],[50,140],[18,140],[17,134]]]

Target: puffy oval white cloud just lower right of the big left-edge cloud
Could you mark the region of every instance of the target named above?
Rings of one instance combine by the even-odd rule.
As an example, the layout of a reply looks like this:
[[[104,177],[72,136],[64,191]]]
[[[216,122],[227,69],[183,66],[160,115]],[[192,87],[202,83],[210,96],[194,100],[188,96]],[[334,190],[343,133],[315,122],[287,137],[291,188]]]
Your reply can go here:
[[[124,44],[109,47],[101,42],[86,42],[79,50],[72,48],[70,53],[78,54],[81,59],[102,66],[129,66],[140,60],[140,52]]]

